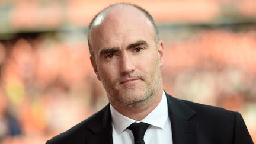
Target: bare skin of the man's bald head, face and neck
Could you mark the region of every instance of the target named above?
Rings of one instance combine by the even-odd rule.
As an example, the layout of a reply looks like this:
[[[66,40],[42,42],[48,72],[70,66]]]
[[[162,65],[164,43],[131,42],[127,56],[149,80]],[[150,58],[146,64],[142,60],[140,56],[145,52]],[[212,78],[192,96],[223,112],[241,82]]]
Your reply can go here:
[[[161,101],[163,43],[138,9],[115,5],[100,14],[89,40],[91,63],[113,107],[140,121]]]

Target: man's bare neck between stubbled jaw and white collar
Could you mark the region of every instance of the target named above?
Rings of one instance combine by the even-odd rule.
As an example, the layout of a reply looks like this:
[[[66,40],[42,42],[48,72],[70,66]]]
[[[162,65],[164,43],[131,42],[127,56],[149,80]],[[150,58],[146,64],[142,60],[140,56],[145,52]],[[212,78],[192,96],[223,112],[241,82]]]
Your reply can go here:
[[[133,106],[122,105],[121,107],[113,105],[113,107],[124,116],[136,121],[141,121],[146,116],[148,116],[148,114],[151,113],[151,111],[153,111],[160,103],[162,99],[162,91],[162,87],[159,88],[156,94],[143,104]]]

